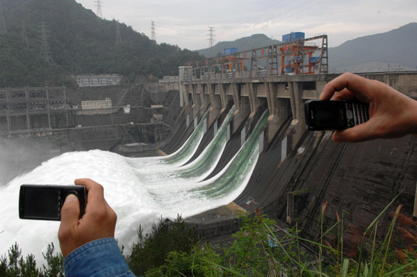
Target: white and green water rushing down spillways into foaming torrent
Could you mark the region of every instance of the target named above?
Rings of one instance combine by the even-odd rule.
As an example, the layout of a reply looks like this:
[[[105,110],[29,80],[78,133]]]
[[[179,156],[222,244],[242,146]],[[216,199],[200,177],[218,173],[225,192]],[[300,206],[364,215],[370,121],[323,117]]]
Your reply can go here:
[[[219,174],[202,181],[213,171],[226,144],[226,122],[205,151],[188,165],[202,139],[201,122],[183,147],[164,158],[126,158],[108,151],[64,153],[43,162],[33,171],[17,176],[0,187],[0,255],[14,242],[22,254],[33,253],[42,262],[47,244],[58,246],[56,221],[19,219],[18,194],[22,184],[69,185],[76,178],[91,178],[104,186],[104,195],[117,213],[115,236],[129,252],[137,229],[145,230],[158,218],[195,215],[230,203],[244,190],[259,156],[259,133],[268,117],[263,115],[245,145]],[[203,119],[204,120],[204,119]],[[202,121],[203,121],[202,120]],[[181,153],[181,154],[179,154]]]

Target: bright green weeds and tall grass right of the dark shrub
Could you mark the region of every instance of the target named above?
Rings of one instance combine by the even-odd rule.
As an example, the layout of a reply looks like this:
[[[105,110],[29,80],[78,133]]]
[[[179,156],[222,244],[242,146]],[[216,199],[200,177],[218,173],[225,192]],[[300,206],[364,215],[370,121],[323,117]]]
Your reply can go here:
[[[323,230],[325,203],[316,241],[300,237],[297,225],[285,231],[256,212],[255,217],[242,215],[230,246],[197,244],[190,253],[171,252],[165,265],[145,276],[417,276],[417,223],[400,213],[401,205],[383,239],[377,240],[379,221],[395,199],[361,233],[353,251],[346,251],[343,241],[347,212],[336,214],[334,225]],[[326,240],[330,235],[336,235],[334,246]]]

